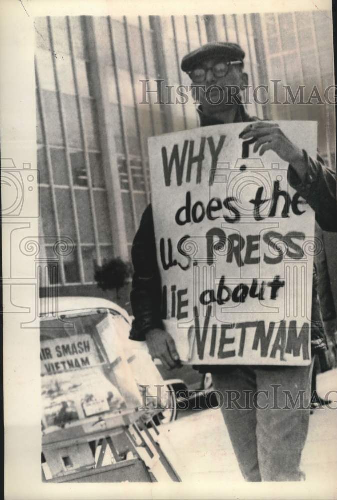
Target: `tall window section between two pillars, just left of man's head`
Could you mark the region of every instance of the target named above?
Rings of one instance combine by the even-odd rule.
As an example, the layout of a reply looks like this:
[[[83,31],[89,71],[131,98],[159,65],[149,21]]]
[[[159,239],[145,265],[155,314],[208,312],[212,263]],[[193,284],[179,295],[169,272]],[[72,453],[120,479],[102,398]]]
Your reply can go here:
[[[145,90],[153,89],[158,71],[148,18],[107,18],[100,22],[103,30],[107,28],[110,42],[106,81],[116,123],[113,133],[130,250],[142,212],[149,203],[147,138],[162,133],[160,106],[154,105],[153,92],[145,93],[143,99],[144,83]]]

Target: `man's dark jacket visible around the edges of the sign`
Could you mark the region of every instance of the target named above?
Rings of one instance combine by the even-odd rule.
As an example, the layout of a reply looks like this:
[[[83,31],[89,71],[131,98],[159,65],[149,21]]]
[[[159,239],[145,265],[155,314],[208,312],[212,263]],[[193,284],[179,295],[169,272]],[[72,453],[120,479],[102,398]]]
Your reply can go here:
[[[201,126],[220,124],[210,120],[199,110]],[[249,117],[243,106],[238,107],[234,122],[255,121]],[[337,231],[336,179],[334,172],[326,168],[320,157],[313,160],[305,153],[308,164],[307,176],[301,182],[296,172],[289,165],[288,182],[313,208],[316,221],[325,231]],[[131,291],[131,305],[134,321],[130,332],[132,340],[145,340],[145,334],[152,328],[164,329],[161,319],[161,282],[157,264],[152,206],[149,205],[141,218],[139,229],[132,245],[132,263],[134,275]],[[317,293],[317,274],[314,268],[312,313],[311,313],[312,352],[326,349],[319,298]],[[203,372],[215,371],[214,366],[200,365]],[[219,367],[223,369],[223,366]]]

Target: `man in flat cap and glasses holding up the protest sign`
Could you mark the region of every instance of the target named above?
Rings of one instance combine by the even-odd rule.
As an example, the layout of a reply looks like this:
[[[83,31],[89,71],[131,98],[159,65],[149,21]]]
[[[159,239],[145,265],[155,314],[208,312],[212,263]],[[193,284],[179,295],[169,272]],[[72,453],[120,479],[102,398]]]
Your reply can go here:
[[[201,126],[248,122],[240,137],[254,141],[254,153],[259,151],[263,155],[270,149],[289,163],[289,184],[314,209],[320,226],[335,231],[333,173],[294,145],[291,137],[286,137],[277,124],[258,121],[247,115],[239,99],[239,92],[248,83],[248,76],[243,72],[243,59],[244,52],[237,44],[220,42],[208,43],[182,59],[181,68],[189,74],[198,94]],[[146,340],[152,357],[173,368],[180,361],[174,340],[162,323],[151,205],[145,210],[134,238],[132,260],[135,272],[131,303],[135,319],[130,338]],[[316,278],[312,298],[313,352],[326,348],[315,281]],[[214,387],[224,396],[222,413],[244,478],[248,481],[301,480],[299,464],[307,435],[309,409],[277,407],[284,406],[283,390],[286,389],[293,400],[296,400],[299,390],[305,391],[304,405],[309,408],[311,366],[200,366],[199,369],[212,373]],[[275,387],[282,390],[275,390]],[[237,403],[244,407],[246,391],[256,394],[260,390],[267,391],[263,403],[269,403],[271,408],[277,406],[275,409],[262,410],[254,406],[239,409],[228,404],[232,391],[238,391]]]

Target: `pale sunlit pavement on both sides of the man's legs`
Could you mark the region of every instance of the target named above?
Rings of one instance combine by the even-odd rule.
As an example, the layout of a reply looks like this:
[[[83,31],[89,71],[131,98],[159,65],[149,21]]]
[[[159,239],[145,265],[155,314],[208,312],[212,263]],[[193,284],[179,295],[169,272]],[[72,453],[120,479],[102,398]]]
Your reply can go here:
[[[337,369],[317,376],[317,390],[323,396],[337,388]],[[331,406],[310,415],[309,433],[302,455],[307,481],[336,481],[337,471],[337,392]],[[191,413],[160,427],[182,462],[183,481],[243,481],[220,410]],[[337,482],[337,481],[336,481]]]

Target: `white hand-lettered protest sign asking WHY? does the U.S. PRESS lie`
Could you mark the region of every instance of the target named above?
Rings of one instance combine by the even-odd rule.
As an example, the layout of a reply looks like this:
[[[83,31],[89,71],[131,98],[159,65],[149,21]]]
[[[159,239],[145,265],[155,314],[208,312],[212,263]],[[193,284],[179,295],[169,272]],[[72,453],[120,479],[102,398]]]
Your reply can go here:
[[[278,122],[316,156],[316,122]],[[193,364],[306,365],[314,212],[246,123],[149,139],[162,313]]]

